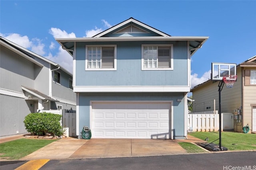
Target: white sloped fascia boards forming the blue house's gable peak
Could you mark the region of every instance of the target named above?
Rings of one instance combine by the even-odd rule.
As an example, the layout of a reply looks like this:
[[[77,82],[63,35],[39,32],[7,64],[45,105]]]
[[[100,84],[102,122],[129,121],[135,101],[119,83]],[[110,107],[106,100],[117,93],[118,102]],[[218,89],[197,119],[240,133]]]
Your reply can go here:
[[[122,22],[122,23],[120,23],[120,24],[118,24],[118,25],[116,25],[116,26],[114,26],[114,27],[112,27],[112,28],[106,30],[106,31],[103,31],[102,33],[96,35],[95,38],[96,38],[96,37],[101,37],[102,35],[105,35],[105,34],[111,32],[111,31],[113,31],[113,30],[115,30],[115,29],[118,29],[119,27],[122,27],[123,25],[125,25],[125,24],[127,24],[127,23],[130,23],[130,22],[134,22],[134,23],[136,23],[136,24],[138,24],[138,25],[140,25],[140,26],[142,26],[142,27],[145,27],[146,29],[149,29],[149,30],[151,30],[151,31],[154,31],[155,33],[158,33],[158,34],[160,34],[160,35],[162,35],[162,36],[164,36],[164,37],[169,37],[169,35],[166,35],[166,34],[162,33],[161,31],[158,31],[158,30],[156,30],[156,29],[154,29],[154,28],[152,28],[152,27],[150,27],[150,26],[148,26],[148,25],[145,25],[144,23],[141,23],[141,22],[136,21],[136,20],[134,20],[134,19],[130,19],[130,20],[126,20],[126,21],[124,21],[124,22]]]

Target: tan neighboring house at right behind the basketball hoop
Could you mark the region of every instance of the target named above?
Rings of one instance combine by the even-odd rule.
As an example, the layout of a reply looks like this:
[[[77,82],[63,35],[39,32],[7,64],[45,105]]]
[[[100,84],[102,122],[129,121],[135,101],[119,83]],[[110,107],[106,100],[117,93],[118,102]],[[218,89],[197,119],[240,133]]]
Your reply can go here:
[[[221,91],[221,112],[234,114],[234,131],[242,132],[247,124],[256,132],[256,56],[236,66],[237,81]],[[218,81],[208,80],[191,89],[193,112],[219,109]],[[215,101],[215,102],[214,102]]]

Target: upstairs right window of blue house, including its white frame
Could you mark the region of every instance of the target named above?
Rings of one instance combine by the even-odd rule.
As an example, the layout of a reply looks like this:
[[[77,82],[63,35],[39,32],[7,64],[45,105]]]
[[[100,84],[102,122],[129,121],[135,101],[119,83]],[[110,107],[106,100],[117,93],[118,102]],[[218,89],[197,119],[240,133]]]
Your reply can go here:
[[[142,45],[142,70],[173,70],[173,45]]]

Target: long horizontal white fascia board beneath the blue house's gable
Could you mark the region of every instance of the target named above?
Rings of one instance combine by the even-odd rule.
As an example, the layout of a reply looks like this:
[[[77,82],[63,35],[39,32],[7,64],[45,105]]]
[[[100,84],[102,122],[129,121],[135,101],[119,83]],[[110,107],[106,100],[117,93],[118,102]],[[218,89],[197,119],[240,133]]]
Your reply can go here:
[[[90,38],[67,38],[55,39],[61,42],[90,42],[90,41],[206,41],[209,37],[90,37]]]

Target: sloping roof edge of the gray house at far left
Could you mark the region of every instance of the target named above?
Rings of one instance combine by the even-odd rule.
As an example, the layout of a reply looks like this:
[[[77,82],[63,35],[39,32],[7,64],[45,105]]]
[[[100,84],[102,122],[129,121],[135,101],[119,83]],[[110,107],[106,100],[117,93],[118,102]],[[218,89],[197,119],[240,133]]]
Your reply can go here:
[[[8,49],[18,53],[19,55],[21,55],[22,57],[28,59],[29,61],[39,65],[39,66],[44,66],[42,63],[36,61],[34,59],[34,57],[37,57],[39,59],[42,59],[54,66],[60,67],[61,70],[63,70],[64,72],[66,72],[67,74],[69,74],[70,76],[73,76],[72,73],[70,73],[68,70],[66,70],[64,67],[60,66],[57,63],[54,63],[36,53],[33,53],[32,51],[29,51],[28,49],[25,49],[24,47],[21,47],[20,45],[17,45],[15,43],[13,43],[12,41],[9,41],[8,39],[5,39],[4,37],[0,36],[0,43],[1,45],[4,45],[5,47],[7,47]]]

